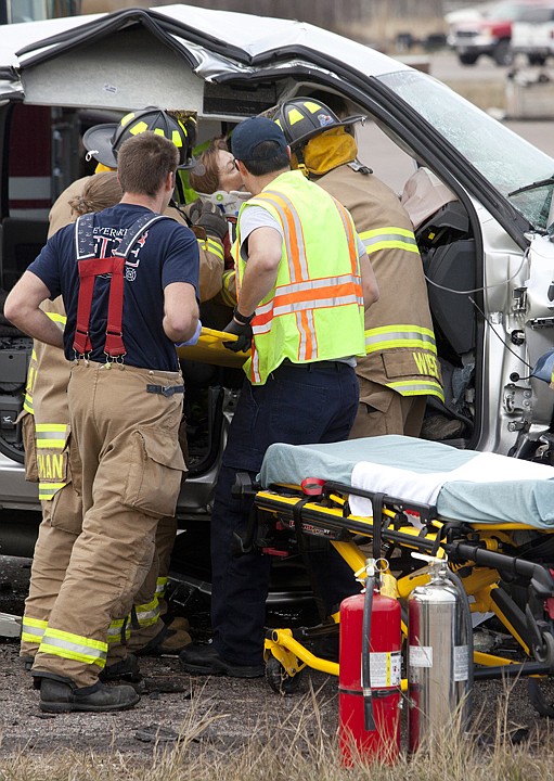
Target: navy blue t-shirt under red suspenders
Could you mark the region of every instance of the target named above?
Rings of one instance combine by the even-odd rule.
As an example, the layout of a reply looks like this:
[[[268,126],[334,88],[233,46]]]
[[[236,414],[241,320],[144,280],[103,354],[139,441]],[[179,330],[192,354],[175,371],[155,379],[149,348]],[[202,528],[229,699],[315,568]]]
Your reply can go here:
[[[96,257],[112,257],[127,229],[144,214],[144,206],[117,204],[94,215]],[[87,263],[87,261],[85,261]],[[175,345],[162,327],[164,289],[172,282],[188,282],[198,296],[198,244],[194,233],[172,219],[152,225],[134,243],[124,270],[123,338],[125,362],[143,369],[176,371],[179,368]],[[64,350],[75,358],[73,342],[77,319],[79,271],[75,225],[59,230],[29,266],[50,291],[50,297],[63,296],[67,312]],[[91,360],[104,363],[109,274],[96,277],[90,317]]]

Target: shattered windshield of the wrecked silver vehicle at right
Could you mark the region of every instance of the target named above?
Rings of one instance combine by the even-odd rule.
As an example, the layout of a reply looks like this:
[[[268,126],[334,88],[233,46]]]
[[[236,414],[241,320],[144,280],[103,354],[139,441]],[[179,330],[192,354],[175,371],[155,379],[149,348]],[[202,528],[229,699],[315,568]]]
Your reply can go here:
[[[400,71],[379,80],[427,119],[534,228],[546,229],[553,182],[510,193],[553,177],[552,157],[425,74]]]

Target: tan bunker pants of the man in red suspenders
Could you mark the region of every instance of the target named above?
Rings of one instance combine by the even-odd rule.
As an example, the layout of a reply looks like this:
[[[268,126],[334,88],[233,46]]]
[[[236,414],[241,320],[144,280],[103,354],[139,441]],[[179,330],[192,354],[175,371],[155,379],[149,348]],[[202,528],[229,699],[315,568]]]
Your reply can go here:
[[[82,529],[35,658],[34,674],[93,684],[108,631],[124,623],[151,567],[159,518],[175,514],[185,469],[178,441],[177,372],[80,362],[68,386],[72,435],[82,464]]]

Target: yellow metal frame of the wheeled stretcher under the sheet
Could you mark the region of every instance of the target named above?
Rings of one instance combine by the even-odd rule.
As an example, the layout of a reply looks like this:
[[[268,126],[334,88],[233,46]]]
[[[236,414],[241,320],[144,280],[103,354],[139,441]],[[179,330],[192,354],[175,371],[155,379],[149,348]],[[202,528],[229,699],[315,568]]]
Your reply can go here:
[[[295,509],[300,504],[302,528],[311,527],[312,532],[319,530],[327,533],[339,530],[343,539],[332,539],[331,545],[350,566],[352,573],[360,572],[365,565],[366,554],[361,550],[358,541],[352,538],[362,536],[363,539],[366,537],[366,542],[372,542],[374,534],[373,517],[351,515],[348,511],[346,496],[336,490],[336,484],[330,483],[327,485],[331,486],[331,489],[325,494],[324,501],[322,501],[320,497],[310,500],[309,497],[302,494],[299,486],[281,485],[272,486],[271,489],[268,490],[259,490],[255,498],[256,513],[258,517],[260,517],[260,514],[261,517],[268,513],[270,515],[273,514],[282,526],[288,526],[291,529],[294,529],[295,521],[292,521],[292,518]],[[348,486],[342,486],[342,488],[345,489],[345,494],[348,491]],[[414,507],[416,509],[416,505]],[[399,518],[402,518],[402,515],[403,517],[408,517],[403,514],[407,509],[409,510],[410,507],[402,500],[386,497],[382,511],[383,539],[386,541],[387,538],[394,536],[396,538],[396,545],[408,550],[421,551],[423,547],[423,549],[427,551],[435,549],[434,553],[436,555],[448,553],[449,543],[447,539],[441,539],[445,527],[448,525],[447,522],[442,522],[436,517],[428,518],[425,533],[422,536],[422,532],[413,525],[402,525],[401,522],[399,525]],[[430,508],[429,510],[431,515],[434,512],[436,513],[435,508]],[[452,526],[452,524],[450,524],[450,526]],[[463,528],[463,525],[459,526]],[[552,532],[539,530],[525,523],[471,524],[469,528],[471,534],[475,536],[473,543],[475,545],[475,542],[477,542],[479,549],[485,551],[485,554],[481,554],[476,550],[476,558],[480,558],[481,555],[486,556],[487,553],[503,556],[503,550],[512,545],[511,534],[515,530],[544,535],[554,534],[554,529]],[[365,545],[365,541],[363,545]],[[500,600],[494,601],[494,592],[499,589],[499,584],[502,579],[501,572],[494,568],[494,566],[482,566],[472,560],[464,562],[463,566],[456,564],[455,561],[449,561],[449,566],[453,572],[458,572],[459,575],[462,574],[464,589],[468,598],[471,598],[471,600],[473,599],[473,601],[471,601],[472,612],[493,613],[507,632],[517,641],[526,656],[534,657],[539,663],[539,667],[541,665],[542,667],[547,667],[549,673],[554,674],[554,638],[552,641],[549,639],[549,642],[545,644],[544,658],[538,657],[537,649],[532,648],[529,638],[525,637],[525,633],[515,626],[515,622],[510,616],[510,611],[502,605]],[[554,580],[549,576],[546,572],[547,568],[542,568],[545,569],[543,578],[544,588],[549,588],[550,577],[550,580],[552,580],[552,596],[554,597]],[[425,566],[423,565],[421,569],[423,572],[418,573],[414,563],[414,571],[409,574],[404,574],[398,578],[389,574],[387,577],[386,591],[382,592],[386,592],[387,596],[405,602],[416,586],[428,580]],[[338,613],[333,615],[332,618],[335,624],[339,624]],[[405,639],[408,632],[404,624],[402,624],[402,632]],[[301,642],[295,639],[294,630],[288,628],[268,630],[265,641],[266,663],[269,663],[272,658],[281,665],[283,679],[288,681],[297,677],[306,667],[333,676],[338,676],[339,674],[338,663],[330,662],[313,654]],[[474,652],[474,665],[484,668],[516,665],[517,669],[523,668],[520,663],[512,658],[479,651]],[[529,667],[531,668],[532,665]],[[530,669],[527,675],[532,675],[532,670]],[[407,687],[407,680],[402,680],[402,689],[405,690]],[[281,691],[283,693],[283,690]]]

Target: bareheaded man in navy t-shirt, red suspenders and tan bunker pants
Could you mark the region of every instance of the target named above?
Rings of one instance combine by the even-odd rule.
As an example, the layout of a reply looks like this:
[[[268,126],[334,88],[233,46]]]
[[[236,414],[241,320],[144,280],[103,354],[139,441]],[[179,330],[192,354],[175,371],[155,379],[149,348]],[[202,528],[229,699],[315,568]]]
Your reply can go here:
[[[67,393],[83,518],[31,670],[46,712],[121,710],[139,700],[99,675],[108,628],[131,609],[185,470],[175,343],[197,330],[198,248],[192,231],[159,214],[179,157],[154,132],[127,140],[120,203],[57,231],[5,300],[17,328],[74,360]],[[60,294],[63,334],[40,309]]]

